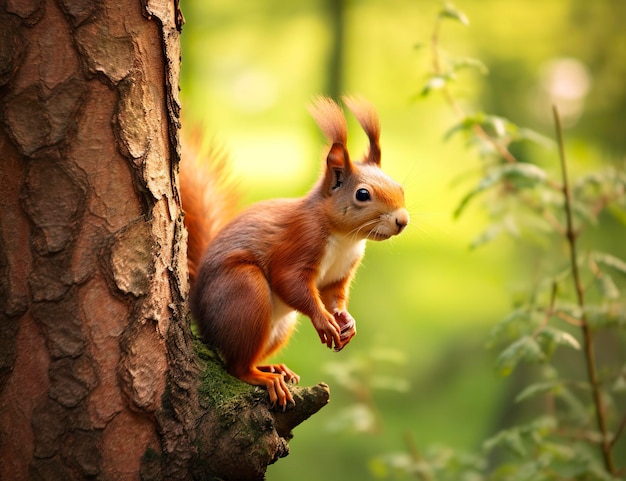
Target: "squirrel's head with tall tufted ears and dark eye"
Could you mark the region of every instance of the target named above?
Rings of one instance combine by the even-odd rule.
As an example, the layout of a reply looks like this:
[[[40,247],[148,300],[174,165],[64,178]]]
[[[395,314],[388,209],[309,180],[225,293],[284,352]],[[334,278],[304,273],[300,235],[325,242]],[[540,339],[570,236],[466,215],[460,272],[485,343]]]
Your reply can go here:
[[[332,146],[317,193],[325,199],[333,231],[356,239],[385,240],[409,223],[404,191],[380,168],[380,125],[374,107],[360,98],[344,101],[369,138],[369,152],[360,162],[350,160],[342,110],[332,100],[318,98],[311,113]]]

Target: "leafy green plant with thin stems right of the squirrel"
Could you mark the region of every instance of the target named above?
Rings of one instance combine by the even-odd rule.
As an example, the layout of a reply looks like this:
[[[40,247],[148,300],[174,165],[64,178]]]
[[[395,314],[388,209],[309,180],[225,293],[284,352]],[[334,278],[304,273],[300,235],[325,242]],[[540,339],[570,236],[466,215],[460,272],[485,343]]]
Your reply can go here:
[[[469,25],[452,4],[445,4],[439,12],[431,45],[434,70],[421,94],[442,94],[459,118],[444,139],[463,134],[468,147],[478,147],[481,167],[480,178],[461,198],[454,216],[460,217],[482,197],[492,223],[470,247],[484,246],[503,232],[516,240],[544,237],[546,245],[559,246],[553,252],[544,249],[550,256],[543,263],[546,272],[487,339],[488,347],[500,351],[495,366],[500,375],[510,376],[522,365],[531,366],[537,374],[514,402],[539,400],[535,404],[544,407],[534,409],[528,422],[485,440],[478,454],[436,447],[422,455],[409,440],[407,452],[377,457],[371,471],[380,478],[402,473],[422,480],[618,479],[626,468],[615,454],[626,424],[626,360],[613,359],[600,370],[596,349],[597,336],[606,331],[616,342],[623,342],[626,261],[593,246],[583,254],[578,250],[586,230],[607,222],[626,226],[625,172],[616,167],[586,172],[570,185],[556,108],[560,178],[553,178],[546,166],[518,160],[511,149],[516,142],[530,141],[552,152],[554,143],[500,116],[465,114],[450,91],[450,82],[457,80],[460,68],[477,67],[483,73],[487,69],[475,60],[449,60],[444,65],[438,43],[446,19]],[[562,372],[558,358],[564,356],[584,366],[586,376]]]

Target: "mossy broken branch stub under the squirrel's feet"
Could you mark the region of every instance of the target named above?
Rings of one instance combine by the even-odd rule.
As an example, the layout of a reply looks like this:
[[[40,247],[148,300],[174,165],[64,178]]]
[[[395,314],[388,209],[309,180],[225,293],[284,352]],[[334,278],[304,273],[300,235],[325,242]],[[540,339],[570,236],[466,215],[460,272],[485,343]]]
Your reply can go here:
[[[267,466],[289,454],[291,431],[328,404],[328,386],[290,387],[296,404],[282,412],[271,408],[265,389],[230,376],[219,356],[199,341],[196,351],[202,384],[194,479],[265,479]]]

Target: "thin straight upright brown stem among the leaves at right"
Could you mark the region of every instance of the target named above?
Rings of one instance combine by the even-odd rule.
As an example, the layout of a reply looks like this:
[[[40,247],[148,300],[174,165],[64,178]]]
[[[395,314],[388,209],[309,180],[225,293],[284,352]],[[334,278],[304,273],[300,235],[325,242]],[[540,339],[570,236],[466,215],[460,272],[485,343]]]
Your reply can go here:
[[[567,221],[566,239],[569,244],[570,262],[572,265],[572,276],[574,279],[574,287],[576,289],[576,297],[578,299],[578,306],[581,310],[581,331],[583,335],[583,344],[585,351],[585,360],[587,364],[587,377],[591,386],[593,395],[593,402],[595,404],[596,421],[598,423],[598,429],[602,434],[602,458],[604,460],[604,466],[606,470],[612,475],[616,474],[615,461],[613,460],[613,451],[611,441],[609,439],[609,433],[607,430],[606,412],[604,402],[602,400],[602,392],[600,390],[600,382],[598,381],[598,373],[596,370],[596,361],[594,353],[593,333],[587,322],[587,314],[585,313],[585,293],[583,284],[578,270],[578,254],[576,239],[578,237],[574,230],[574,222],[572,216],[572,199],[570,194],[569,182],[567,179],[567,162],[565,159],[565,145],[563,142],[563,129],[561,127],[561,119],[556,106],[552,107],[554,114],[554,124],[556,127],[556,136],[559,145],[559,157],[561,161],[561,173],[563,176],[563,198],[565,201],[565,217]]]

